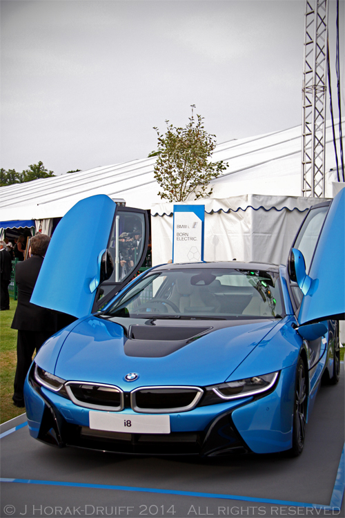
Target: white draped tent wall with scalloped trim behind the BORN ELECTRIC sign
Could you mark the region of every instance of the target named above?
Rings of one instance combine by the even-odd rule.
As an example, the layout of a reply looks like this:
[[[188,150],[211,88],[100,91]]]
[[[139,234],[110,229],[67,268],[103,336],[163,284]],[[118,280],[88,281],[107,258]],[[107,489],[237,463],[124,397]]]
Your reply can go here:
[[[206,261],[285,263],[295,233],[315,198],[248,194],[184,204],[205,205]],[[152,207],[152,262],[172,258],[173,203]]]

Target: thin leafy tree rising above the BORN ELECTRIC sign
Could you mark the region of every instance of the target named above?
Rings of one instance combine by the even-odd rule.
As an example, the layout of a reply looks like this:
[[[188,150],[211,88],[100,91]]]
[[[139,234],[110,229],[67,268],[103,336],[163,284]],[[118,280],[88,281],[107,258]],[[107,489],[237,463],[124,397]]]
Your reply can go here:
[[[204,117],[192,115],[185,128],[175,128],[166,121],[165,134],[157,131],[157,161],[155,163],[155,180],[163,191],[159,196],[169,202],[184,202],[188,195],[194,193],[195,200],[206,198],[213,189],[208,191],[208,184],[224,171],[228,164],[210,162],[216,146],[215,135],[210,135],[204,129]],[[152,155],[152,153],[150,153]]]

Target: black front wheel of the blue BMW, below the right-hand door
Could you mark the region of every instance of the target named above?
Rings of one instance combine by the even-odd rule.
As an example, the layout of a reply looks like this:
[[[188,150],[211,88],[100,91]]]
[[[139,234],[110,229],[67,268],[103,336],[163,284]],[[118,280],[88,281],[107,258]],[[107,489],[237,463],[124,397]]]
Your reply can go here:
[[[306,366],[302,358],[299,358],[296,370],[295,401],[293,404],[293,447],[289,451],[290,457],[297,457],[303,451],[306,434],[307,403]]]

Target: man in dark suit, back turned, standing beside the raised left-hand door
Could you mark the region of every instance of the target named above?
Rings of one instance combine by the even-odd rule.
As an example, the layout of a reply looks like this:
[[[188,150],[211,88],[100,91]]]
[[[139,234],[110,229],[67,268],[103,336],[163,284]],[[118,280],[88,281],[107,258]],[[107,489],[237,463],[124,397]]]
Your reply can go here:
[[[37,233],[31,240],[31,257],[16,265],[18,305],[11,327],[18,329],[17,370],[12,396],[13,403],[17,407],[24,407],[23,386],[34,349],[37,352],[56,331],[55,316],[48,309],[30,303],[49,242],[49,236]]]

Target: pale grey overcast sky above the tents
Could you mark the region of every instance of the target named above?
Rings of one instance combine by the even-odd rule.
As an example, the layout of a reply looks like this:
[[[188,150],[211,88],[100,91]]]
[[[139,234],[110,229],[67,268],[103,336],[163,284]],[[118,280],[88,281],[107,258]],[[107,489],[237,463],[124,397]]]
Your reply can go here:
[[[41,160],[59,175],[147,157],[152,126],[184,126],[190,104],[217,142],[301,124],[304,0],[0,5],[4,169]],[[335,12],[331,0],[333,79]]]

